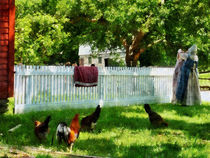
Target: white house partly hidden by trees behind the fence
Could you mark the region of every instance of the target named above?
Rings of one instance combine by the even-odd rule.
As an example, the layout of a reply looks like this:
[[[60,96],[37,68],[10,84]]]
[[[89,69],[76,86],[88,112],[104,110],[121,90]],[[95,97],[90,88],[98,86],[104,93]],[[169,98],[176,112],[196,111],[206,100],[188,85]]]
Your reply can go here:
[[[125,51],[117,49],[115,51],[91,50],[90,45],[81,45],[79,47],[79,65],[90,66],[95,64],[98,67],[110,66],[111,60],[123,61],[125,63]]]

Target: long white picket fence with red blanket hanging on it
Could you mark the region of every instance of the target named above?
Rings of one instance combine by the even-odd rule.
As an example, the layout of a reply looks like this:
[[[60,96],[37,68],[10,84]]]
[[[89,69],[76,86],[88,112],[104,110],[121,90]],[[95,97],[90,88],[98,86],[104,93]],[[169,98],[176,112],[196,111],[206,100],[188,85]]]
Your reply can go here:
[[[15,113],[170,102],[174,68],[99,68],[98,86],[75,87],[74,67],[15,66]]]

